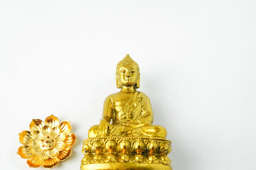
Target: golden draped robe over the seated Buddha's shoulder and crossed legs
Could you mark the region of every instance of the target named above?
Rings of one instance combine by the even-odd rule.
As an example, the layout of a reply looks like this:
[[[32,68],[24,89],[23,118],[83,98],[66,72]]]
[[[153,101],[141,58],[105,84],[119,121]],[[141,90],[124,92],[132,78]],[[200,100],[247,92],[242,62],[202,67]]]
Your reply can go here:
[[[149,136],[149,137],[166,137],[166,130],[153,123],[153,113],[149,97],[146,94],[135,91],[122,106],[120,111],[114,108],[114,102],[107,108],[107,116],[111,119],[110,129],[107,135],[112,136]],[[89,130],[89,137],[100,135],[99,125],[92,126]]]

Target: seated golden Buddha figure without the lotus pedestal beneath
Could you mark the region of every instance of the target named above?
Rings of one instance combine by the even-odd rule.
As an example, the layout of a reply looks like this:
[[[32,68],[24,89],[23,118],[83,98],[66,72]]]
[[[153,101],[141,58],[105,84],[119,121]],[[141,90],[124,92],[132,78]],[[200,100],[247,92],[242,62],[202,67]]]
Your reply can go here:
[[[105,135],[166,137],[166,130],[153,123],[149,97],[139,88],[139,65],[129,55],[117,64],[118,93],[107,96],[100,125],[90,128],[88,137]]]

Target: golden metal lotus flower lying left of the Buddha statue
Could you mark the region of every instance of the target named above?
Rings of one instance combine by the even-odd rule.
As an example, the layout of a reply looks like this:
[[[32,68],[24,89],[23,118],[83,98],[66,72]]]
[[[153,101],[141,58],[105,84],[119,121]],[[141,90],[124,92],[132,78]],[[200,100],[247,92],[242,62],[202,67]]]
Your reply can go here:
[[[22,158],[28,159],[28,166],[53,168],[58,162],[70,157],[70,147],[73,147],[76,137],[70,133],[69,122],[60,123],[58,118],[50,115],[45,123],[40,119],[33,119],[29,128],[30,131],[24,130],[19,134],[23,145],[17,152]]]

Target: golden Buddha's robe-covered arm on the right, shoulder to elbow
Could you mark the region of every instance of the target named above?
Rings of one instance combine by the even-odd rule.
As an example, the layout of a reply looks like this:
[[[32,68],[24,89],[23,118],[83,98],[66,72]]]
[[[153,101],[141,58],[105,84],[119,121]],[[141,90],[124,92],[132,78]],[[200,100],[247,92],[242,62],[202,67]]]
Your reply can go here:
[[[146,95],[145,95],[146,96]],[[153,111],[151,108],[151,103],[149,101],[149,97],[146,96],[146,113],[142,115],[142,118],[139,118],[137,121],[140,124],[146,124],[146,125],[151,125],[153,123],[154,116],[153,116]]]

